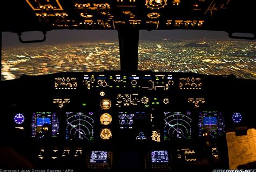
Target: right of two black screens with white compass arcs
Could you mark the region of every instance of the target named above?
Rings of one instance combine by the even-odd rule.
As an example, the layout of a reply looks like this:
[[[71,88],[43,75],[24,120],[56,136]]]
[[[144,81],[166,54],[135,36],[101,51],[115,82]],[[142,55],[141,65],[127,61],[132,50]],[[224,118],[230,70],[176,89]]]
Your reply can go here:
[[[191,139],[191,112],[164,112],[164,140]]]

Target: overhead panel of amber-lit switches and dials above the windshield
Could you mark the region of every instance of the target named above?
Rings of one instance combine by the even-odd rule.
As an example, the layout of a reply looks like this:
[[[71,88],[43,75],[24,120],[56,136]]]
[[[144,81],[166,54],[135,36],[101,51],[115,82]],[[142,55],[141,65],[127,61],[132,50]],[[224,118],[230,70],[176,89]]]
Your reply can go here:
[[[230,7],[228,0],[26,0],[38,23],[52,29],[197,29]],[[209,21],[210,20],[210,21]]]

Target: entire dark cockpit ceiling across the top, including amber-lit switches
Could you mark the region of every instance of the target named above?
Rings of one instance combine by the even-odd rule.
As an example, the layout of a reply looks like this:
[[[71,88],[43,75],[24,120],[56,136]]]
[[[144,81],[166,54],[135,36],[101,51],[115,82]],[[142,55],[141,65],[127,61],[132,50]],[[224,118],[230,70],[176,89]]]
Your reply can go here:
[[[2,31],[216,30],[255,35],[254,1],[2,1]]]

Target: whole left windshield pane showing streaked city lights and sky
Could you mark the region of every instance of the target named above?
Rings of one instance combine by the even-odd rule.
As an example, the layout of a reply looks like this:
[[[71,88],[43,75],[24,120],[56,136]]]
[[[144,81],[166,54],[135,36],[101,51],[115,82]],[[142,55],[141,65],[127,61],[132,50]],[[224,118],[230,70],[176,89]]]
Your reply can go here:
[[[25,34],[24,40],[42,37],[41,33]],[[60,30],[46,37],[42,43],[22,44],[17,34],[3,32],[1,80],[22,74],[120,70],[117,31]]]

